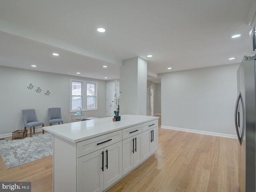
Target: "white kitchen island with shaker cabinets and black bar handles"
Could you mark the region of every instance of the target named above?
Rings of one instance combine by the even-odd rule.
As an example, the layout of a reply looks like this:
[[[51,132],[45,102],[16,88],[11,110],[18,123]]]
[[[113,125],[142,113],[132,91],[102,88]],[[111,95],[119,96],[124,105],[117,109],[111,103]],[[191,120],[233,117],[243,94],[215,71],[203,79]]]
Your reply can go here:
[[[54,134],[53,191],[102,192],[158,148],[158,117],[122,115],[44,127]]]

